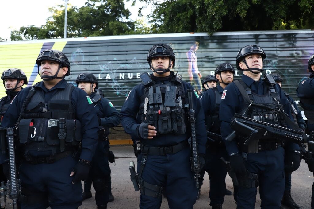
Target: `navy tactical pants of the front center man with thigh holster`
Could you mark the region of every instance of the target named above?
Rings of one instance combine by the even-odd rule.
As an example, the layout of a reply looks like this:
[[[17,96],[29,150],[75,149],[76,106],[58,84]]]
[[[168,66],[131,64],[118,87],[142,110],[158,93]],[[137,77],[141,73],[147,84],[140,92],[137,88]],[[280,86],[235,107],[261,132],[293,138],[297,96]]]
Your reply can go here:
[[[139,172],[143,154],[138,155]],[[164,187],[165,196],[170,209],[192,209],[197,197],[197,188],[190,163],[191,149],[189,147],[175,154],[162,156],[148,155],[143,168],[142,178],[149,184]],[[162,196],[155,198],[140,196],[140,209],[159,209]]]

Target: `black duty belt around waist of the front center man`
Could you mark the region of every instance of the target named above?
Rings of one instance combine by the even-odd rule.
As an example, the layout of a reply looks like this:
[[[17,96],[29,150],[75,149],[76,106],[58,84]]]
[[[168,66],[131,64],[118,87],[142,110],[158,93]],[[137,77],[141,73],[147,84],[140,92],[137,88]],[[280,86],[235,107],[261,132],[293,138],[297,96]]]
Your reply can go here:
[[[151,147],[141,144],[141,151],[143,151],[144,147],[148,147],[148,153],[149,155],[166,155],[166,154],[175,154],[184,148],[189,146],[187,141],[183,141],[177,145],[174,146],[167,146],[167,147]]]

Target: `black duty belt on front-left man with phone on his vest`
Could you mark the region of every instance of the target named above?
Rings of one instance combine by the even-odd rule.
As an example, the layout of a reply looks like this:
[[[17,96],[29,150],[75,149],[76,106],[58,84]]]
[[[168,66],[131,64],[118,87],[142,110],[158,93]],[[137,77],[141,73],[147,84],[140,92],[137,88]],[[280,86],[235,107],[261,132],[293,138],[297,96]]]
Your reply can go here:
[[[27,154],[24,154],[24,161],[30,163],[30,164],[41,164],[41,163],[54,163],[57,160],[61,160],[62,158],[68,157],[72,155],[73,151],[65,151],[65,152],[60,152],[55,155],[50,155],[47,157],[33,157]]]

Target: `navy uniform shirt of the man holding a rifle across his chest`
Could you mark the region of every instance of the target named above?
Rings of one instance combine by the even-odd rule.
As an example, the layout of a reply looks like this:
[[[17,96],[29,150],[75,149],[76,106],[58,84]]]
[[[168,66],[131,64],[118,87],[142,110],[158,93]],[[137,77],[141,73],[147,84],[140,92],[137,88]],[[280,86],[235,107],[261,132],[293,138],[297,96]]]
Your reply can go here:
[[[269,92],[266,83],[260,78],[258,81],[254,81],[252,78],[242,75],[242,80],[251,89],[252,92],[258,95],[264,95]],[[284,112],[288,114],[289,118],[293,121],[293,116],[291,115],[290,103],[286,99],[284,92],[278,84],[274,85],[275,91],[280,95],[280,103],[284,106]],[[225,96],[221,99],[219,108],[219,121],[221,122],[220,131],[222,139],[225,142],[228,154],[239,152],[236,140],[226,141],[225,138],[233,131],[230,127],[230,120],[233,118],[235,113],[239,113],[243,106],[244,98],[241,95],[238,87],[235,83],[230,83],[225,88]],[[290,150],[300,150],[299,146],[295,143],[289,143]]]

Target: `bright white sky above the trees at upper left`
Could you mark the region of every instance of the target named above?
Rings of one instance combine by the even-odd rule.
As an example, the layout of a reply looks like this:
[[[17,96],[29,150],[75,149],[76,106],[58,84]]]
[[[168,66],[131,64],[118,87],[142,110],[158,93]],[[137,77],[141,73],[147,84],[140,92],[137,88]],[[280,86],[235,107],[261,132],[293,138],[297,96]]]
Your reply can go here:
[[[68,0],[68,5],[84,6],[86,0]],[[126,8],[133,13],[132,20],[138,19],[138,6],[131,6],[131,1],[124,1]],[[63,0],[1,0],[0,3],[0,37],[10,39],[12,30],[22,26],[46,24],[46,19],[52,16],[48,8],[64,4]]]

